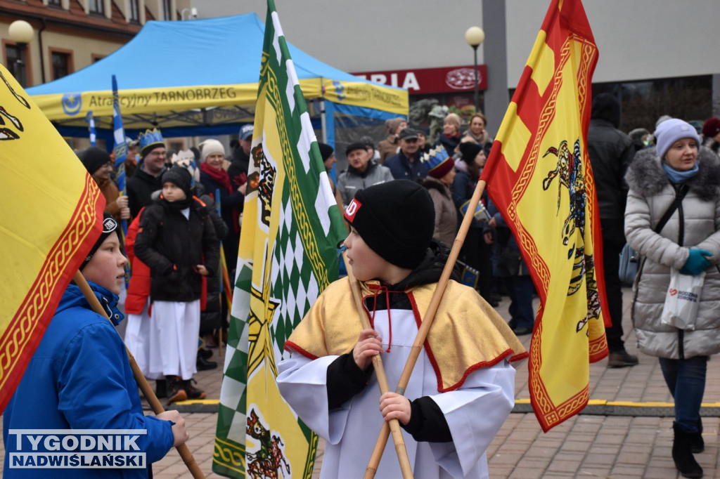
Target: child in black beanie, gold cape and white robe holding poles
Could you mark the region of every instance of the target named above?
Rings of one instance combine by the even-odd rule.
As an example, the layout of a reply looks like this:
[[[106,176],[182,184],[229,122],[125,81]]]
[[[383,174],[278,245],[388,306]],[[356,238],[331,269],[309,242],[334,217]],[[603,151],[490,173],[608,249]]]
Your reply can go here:
[[[511,361],[527,356],[472,288],[451,280],[405,396],[382,397],[372,357],[394,389],[447,258],[432,239],[425,188],[392,181],[357,193],[344,245],[373,329],[362,329],[347,278],[332,283],[285,344],[278,386],[326,441],[320,478],[362,478],[382,420],[398,419],[414,477],[487,478],[485,450],[514,405]],[[380,414],[378,414],[380,409]],[[377,478],[400,478],[392,440]]]

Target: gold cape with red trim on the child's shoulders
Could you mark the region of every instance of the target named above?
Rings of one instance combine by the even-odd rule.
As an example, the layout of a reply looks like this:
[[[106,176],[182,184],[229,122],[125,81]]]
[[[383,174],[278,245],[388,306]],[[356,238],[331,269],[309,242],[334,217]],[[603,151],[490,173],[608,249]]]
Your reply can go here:
[[[363,298],[379,290],[377,281],[360,283]],[[422,323],[436,283],[408,288],[418,327]],[[366,311],[370,316],[370,311]],[[330,284],[294,329],[285,349],[312,360],[343,355],[356,345],[362,329],[350,281]],[[474,370],[508,358],[525,359],[525,348],[505,320],[474,289],[450,281],[425,342],[425,350],[438,379],[438,392],[454,391]]]

